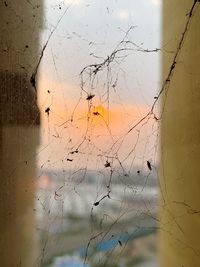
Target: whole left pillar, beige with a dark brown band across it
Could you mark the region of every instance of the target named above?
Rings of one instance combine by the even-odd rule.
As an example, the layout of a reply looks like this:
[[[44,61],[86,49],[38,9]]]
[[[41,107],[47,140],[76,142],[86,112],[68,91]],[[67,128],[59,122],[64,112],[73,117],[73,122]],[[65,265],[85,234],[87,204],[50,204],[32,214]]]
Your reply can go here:
[[[31,267],[40,116],[30,78],[38,62],[42,1],[0,2],[0,266]]]

